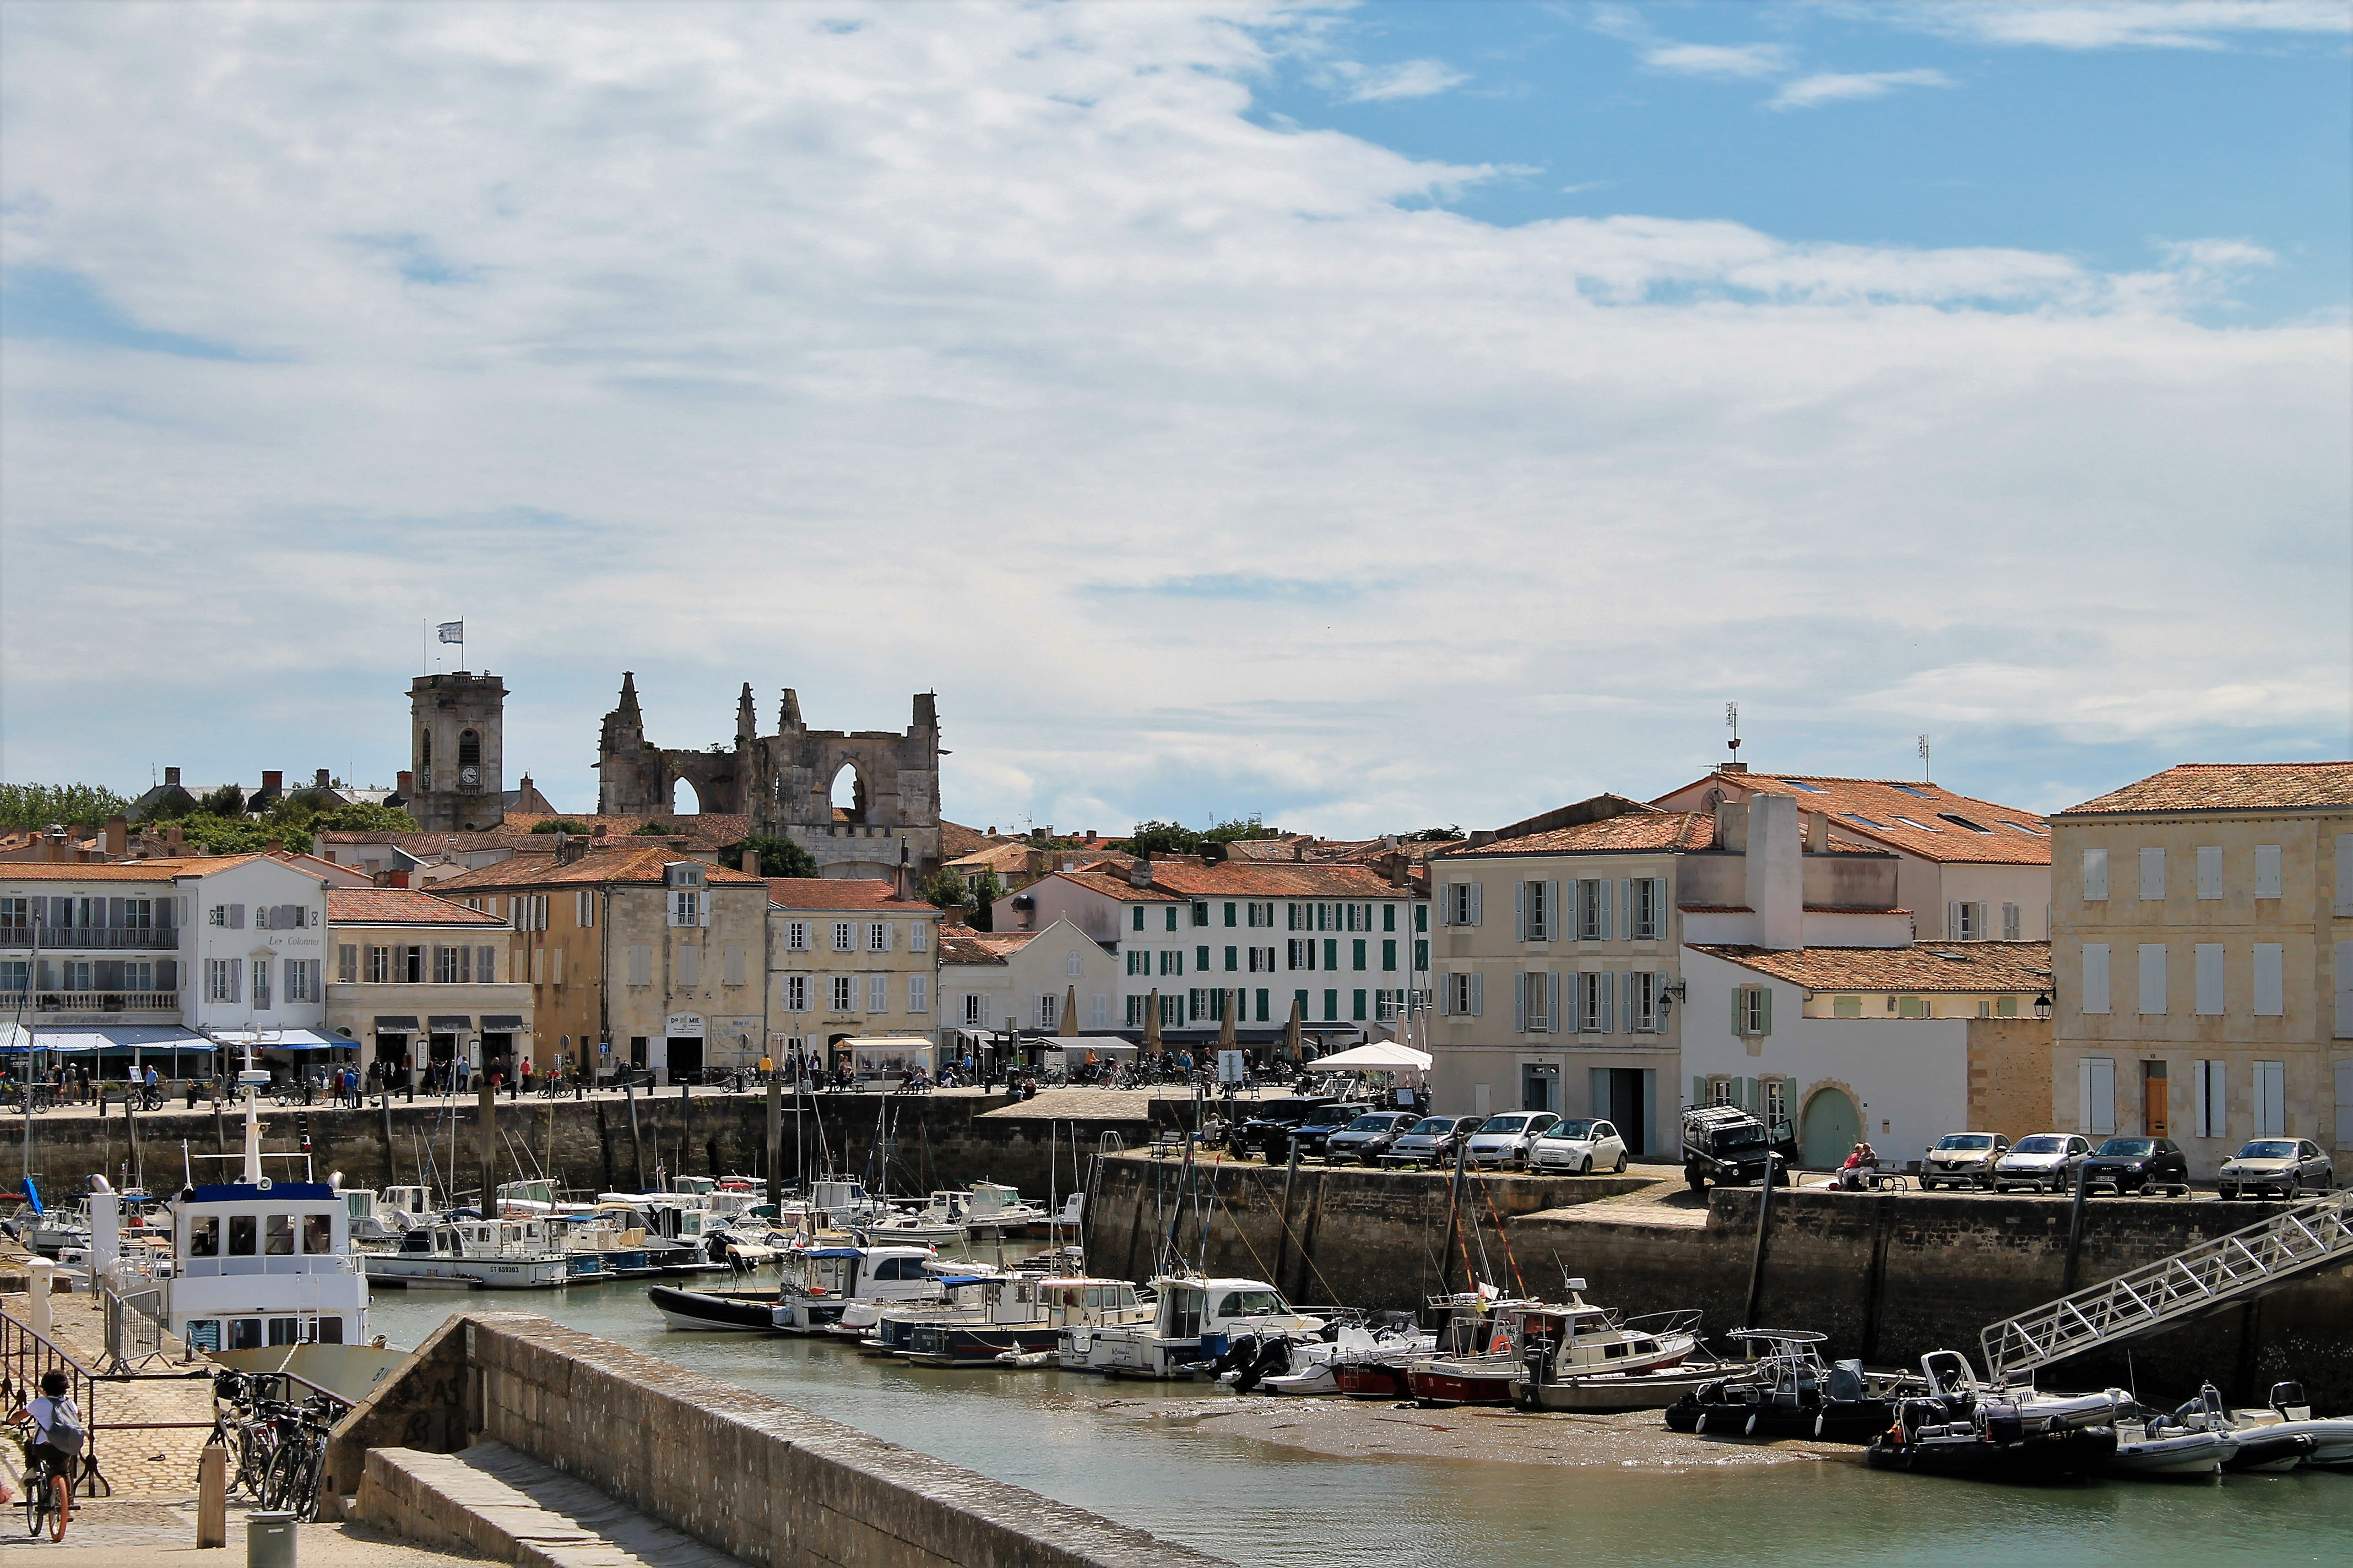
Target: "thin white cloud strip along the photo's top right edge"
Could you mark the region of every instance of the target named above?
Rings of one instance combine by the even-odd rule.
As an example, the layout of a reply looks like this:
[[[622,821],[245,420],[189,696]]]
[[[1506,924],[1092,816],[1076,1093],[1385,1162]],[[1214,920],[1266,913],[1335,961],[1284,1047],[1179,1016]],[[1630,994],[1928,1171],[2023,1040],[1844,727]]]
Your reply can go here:
[[[1960,0],[1873,7],[1901,26],[2049,49],[2219,49],[2233,35],[2344,35],[2344,0]]]

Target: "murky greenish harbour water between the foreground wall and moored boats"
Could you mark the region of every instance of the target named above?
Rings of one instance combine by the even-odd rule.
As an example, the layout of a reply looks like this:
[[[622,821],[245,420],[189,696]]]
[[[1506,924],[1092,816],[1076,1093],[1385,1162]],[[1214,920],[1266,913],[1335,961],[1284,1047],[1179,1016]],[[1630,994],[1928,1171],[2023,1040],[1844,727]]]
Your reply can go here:
[[[1235,1399],[1214,1385],[1056,1371],[922,1371],[838,1340],[680,1333],[642,1284],[534,1293],[381,1291],[374,1333],[416,1345],[459,1309],[518,1309],[755,1389],[1245,1568],[1633,1568],[1904,1563],[2346,1563],[2353,1476],[2052,1490],[1892,1476],[1852,1453],[1687,1472],[1327,1458],[1146,1422],[1129,1401]],[[1108,1406],[1108,1408],[1106,1408]],[[1367,1420],[1372,1410],[1367,1410]]]

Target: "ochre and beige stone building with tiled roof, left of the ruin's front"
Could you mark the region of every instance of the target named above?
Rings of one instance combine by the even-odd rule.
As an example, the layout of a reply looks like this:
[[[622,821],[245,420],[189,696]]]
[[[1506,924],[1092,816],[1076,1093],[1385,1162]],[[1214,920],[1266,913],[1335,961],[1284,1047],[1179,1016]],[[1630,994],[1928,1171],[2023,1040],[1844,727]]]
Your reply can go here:
[[[671,1084],[751,1067],[765,1030],[767,886],[666,846],[515,856],[435,884],[513,926],[506,976],[532,987],[532,1058]]]

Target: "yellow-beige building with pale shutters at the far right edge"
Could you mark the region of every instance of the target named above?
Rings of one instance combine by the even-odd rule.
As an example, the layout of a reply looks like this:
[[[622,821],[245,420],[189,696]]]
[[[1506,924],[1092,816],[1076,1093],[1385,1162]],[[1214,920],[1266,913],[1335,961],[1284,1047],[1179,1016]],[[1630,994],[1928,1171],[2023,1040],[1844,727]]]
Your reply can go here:
[[[2353,762],[2184,764],[2049,823],[2059,1126],[2346,1168]]]

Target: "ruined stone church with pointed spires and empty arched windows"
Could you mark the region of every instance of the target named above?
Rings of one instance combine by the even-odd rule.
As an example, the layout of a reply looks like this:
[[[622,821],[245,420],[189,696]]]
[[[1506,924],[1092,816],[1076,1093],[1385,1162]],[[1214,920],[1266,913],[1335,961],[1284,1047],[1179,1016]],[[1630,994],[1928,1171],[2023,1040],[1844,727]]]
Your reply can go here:
[[[809,729],[786,686],[776,733],[762,736],[751,684],[736,701],[732,748],[664,750],[645,738],[638,677],[621,672],[621,701],[598,741],[598,813],[666,816],[680,783],[699,811],[741,813],[753,832],[809,851],[824,877],[929,877],[941,863],[939,710],[915,693],[906,733]],[[852,804],[833,790],[852,776]]]

